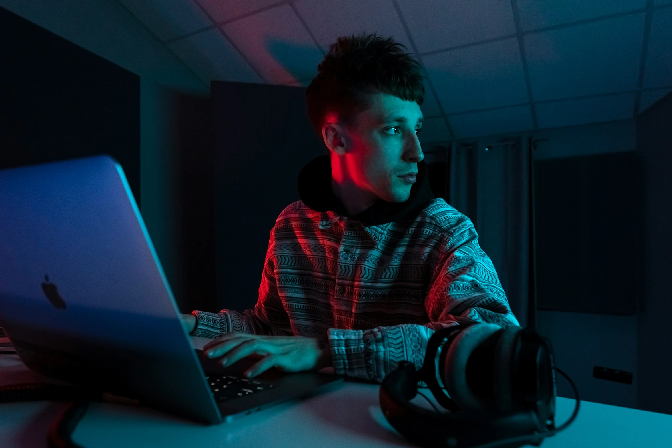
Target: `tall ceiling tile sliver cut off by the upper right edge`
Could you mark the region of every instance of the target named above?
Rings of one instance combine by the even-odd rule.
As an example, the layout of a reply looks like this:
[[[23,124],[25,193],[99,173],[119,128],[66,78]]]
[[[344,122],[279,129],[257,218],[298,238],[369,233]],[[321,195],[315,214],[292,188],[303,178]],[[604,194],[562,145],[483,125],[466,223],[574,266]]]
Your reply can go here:
[[[672,8],[653,13],[644,71],[644,88],[668,85],[672,85]]]

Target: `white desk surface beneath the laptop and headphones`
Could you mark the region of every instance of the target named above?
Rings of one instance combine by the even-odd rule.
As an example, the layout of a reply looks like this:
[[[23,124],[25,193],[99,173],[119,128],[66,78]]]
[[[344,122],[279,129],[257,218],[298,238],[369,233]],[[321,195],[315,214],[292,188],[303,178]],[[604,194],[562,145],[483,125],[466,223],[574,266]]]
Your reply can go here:
[[[0,384],[43,380],[15,355],[0,355]],[[46,447],[47,429],[64,406],[0,404],[0,447]],[[573,400],[558,398],[557,424],[573,406]],[[382,415],[378,386],[347,382],[325,394],[210,427],[150,408],[92,403],[73,440],[86,448],[412,446]],[[671,441],[672,415],[581,402],[571,427],[546,439],[542,447],[668,448]]]

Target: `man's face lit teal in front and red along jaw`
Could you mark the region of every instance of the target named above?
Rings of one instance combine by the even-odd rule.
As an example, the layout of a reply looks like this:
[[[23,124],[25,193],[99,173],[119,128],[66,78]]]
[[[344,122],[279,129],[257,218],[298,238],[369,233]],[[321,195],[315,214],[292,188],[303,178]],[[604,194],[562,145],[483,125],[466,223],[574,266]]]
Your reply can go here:
[[[423,124],[420,106],[386,93],[368,94],[368,103],[343,128],[347,175],[380,199],[406,201],[424,159],[417,138]]]

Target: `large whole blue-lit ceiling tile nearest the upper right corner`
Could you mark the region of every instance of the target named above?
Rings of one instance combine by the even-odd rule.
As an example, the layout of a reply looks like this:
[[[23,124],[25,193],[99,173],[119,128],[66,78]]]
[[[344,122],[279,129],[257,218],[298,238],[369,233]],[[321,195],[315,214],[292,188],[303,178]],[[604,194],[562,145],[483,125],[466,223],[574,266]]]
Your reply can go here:
[[[527,34],[535,101],[637,88],[644,14]]]

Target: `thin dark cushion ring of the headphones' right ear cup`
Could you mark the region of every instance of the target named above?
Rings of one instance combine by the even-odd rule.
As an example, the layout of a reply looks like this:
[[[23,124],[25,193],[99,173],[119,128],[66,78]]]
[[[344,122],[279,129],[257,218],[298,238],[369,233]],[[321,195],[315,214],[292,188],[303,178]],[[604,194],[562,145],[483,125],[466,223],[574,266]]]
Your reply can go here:
[[[495,391],[495,405],[501,411],[513,410],[511,368],[515,355],[515,346],[519,341],[522,330],[519,326],[507,326],[499,337],[497,345],[495,345],[493,390]]]

